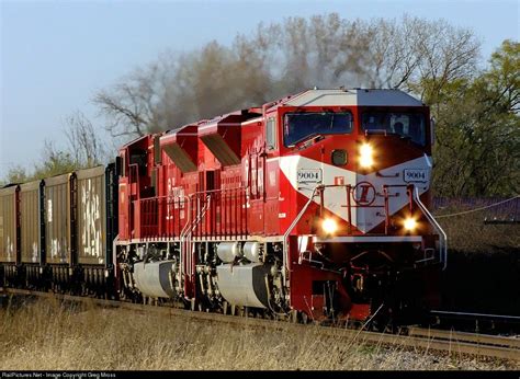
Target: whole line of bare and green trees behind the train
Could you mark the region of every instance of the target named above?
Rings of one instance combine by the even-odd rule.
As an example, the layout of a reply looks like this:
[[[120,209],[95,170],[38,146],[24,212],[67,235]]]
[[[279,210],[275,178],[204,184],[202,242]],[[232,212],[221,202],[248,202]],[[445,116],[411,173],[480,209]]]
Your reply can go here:
[[[92,96],[114,146],[308,88],[402,89],[436,119],[437,196],[509,196],[519,192],[520,44],[505,41],[487,59],[474,32],[443,20],[403,16],[347,20],[337,13],[260,23],[183,54],[163,53]],[[66,119],[69,148],[47,143],[32,173],[90,166],[114,152],[80,112]]]

